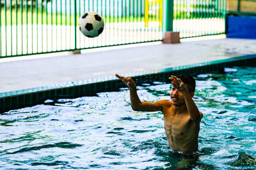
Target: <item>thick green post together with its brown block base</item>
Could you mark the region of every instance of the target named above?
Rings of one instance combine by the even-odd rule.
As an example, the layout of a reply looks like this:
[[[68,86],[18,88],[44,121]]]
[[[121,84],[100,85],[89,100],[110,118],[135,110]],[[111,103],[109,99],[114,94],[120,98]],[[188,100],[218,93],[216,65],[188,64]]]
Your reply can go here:
[[[180,43],[180,33],[173,32],[173,1],[164,0],[163,2],[163,43]]]

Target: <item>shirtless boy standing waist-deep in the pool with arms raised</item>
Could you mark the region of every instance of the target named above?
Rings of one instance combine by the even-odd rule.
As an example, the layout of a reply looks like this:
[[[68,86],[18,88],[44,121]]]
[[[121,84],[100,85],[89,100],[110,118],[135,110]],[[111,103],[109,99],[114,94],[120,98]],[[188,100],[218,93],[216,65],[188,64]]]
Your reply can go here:
[[[192,97],[195,94],[195,79],[189,75],[171,76],[171,101],[160,100],[154,103],[141,102],[136,83],[129,77],[116,74],[130,90],[131,106],[135,111],[162,111],[164,130],[172,150],[191,153],[198,151],[198,133],[203,115]]]

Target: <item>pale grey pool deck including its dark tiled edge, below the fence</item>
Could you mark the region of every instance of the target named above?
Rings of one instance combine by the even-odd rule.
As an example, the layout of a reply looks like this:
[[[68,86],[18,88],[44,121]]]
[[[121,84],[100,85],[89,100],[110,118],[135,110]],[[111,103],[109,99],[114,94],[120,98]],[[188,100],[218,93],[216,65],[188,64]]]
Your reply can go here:
[[[206,71],[201,66],[232,60],[239,62],[237,57],[244,55],[247,57],[242,59],[253,59],[248,62],[255,66],[255,54],[256,39],[227,39],[220,35],[206,39],[181,39],[179,44],[155,42],[95,48],[76,55],[57,53],[0,59],[0,113],[54,96],[76,97],[79,94],[90,95],[92,91],[115,89],[118,85],[108,81],[115,80],[115,73],[140,76],[164,72],[164,76],[168,77],[173,70],[189,71],[189,67],[200,66],[198,72],[193,71],[192,74],[195,74],[202,72],[202,69]],[[102,81],[105,84],[99,85]],[[84,87],[92,83],[93,86]]]

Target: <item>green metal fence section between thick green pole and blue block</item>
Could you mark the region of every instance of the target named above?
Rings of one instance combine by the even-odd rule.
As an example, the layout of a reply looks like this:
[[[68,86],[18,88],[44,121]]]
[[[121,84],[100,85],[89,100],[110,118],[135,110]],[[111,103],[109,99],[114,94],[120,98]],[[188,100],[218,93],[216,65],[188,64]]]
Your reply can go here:
[[[226,0],[175,0],[173,31],[181,38],[225,32]]]

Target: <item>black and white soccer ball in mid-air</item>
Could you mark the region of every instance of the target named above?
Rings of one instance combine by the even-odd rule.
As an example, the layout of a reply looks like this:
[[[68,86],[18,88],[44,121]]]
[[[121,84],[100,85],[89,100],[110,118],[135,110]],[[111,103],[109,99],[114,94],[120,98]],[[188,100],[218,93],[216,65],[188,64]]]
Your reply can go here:
[[[87,12],[79,19],[79,29],[89,38],[99,36],[104,29],[104,20],[95,12]]]

